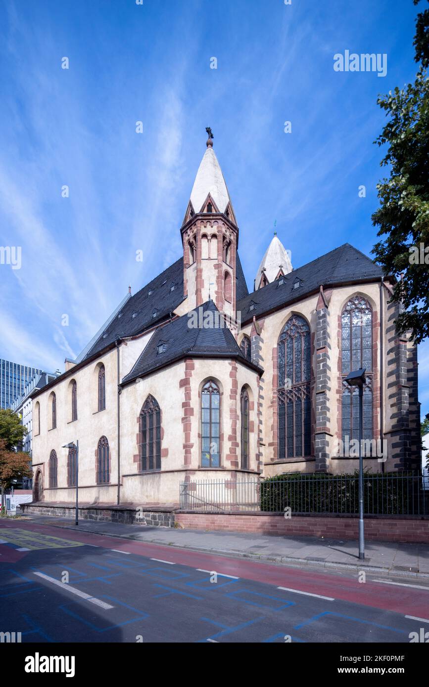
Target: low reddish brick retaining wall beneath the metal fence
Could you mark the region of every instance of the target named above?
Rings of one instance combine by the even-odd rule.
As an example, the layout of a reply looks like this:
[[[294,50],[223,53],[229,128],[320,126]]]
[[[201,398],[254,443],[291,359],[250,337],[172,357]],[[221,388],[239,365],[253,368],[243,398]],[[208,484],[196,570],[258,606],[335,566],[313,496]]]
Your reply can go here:
[[[229,532],[257,532],[258,534],[297,535],[300,537],[332,537],[358,539],[358,518],[284,515],[272,513],[176,513],[175,520],[192,530],[224,530]],[[429,543],[429,518],[421,516],[365,517],[366,539],[381,541]]]

